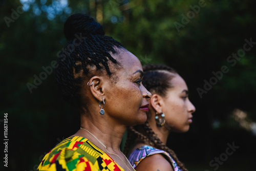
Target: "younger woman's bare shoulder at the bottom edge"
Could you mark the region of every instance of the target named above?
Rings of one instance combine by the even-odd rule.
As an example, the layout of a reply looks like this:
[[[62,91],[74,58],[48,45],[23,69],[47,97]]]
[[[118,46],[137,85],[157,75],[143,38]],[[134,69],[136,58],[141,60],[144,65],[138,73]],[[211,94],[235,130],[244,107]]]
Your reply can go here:
[[[135,168],[137,171],[173,171],[172,165],[161,155],[155,154],[144,158]]]

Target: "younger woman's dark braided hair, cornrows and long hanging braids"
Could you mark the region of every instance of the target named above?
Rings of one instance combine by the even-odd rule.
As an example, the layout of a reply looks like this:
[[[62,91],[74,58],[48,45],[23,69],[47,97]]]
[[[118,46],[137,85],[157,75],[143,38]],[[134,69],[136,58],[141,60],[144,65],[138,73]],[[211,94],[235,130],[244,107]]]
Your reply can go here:
[[[173,68],[164,65],[146,65],[143,66],[144,76],[142,80],[143,86],[152,94],[159,94],[165,97],[166,91],[172,88],[171,79],[175,77],[177,71]],[[139,125],[138,125],[139,126]],[[142,128],[145,131],[145,135],[138,132],[137,126],[129,126],[127,129],[127,140],[124,146],[124,154],[127,155],[129,147],[134,141],[134,137],[142,141],[145,144],[154,146],[158,149],[162,149],[167,152],[176,161],[177,165],[183,170],[187,171],[184,164],[179,161],[174,151],[168,148],[154,133],[150,125],[146,121],[142,124]]]

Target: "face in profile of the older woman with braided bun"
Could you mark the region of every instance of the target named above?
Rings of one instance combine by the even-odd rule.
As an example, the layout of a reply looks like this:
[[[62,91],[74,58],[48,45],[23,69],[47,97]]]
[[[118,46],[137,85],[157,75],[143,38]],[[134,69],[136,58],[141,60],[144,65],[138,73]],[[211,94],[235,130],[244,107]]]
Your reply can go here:
[[[136,125],[146,121],[147,99],[151,97],[142,85],[143,70],[139,59],[127,50],[118,50],[112,56],[121,63],[113,75],[114,81],[109,81],[106,89],[105,108],[112,118],[120,124]],[[148,94],[146,94],[148,92]],[[144,108],[143,108],[144,107]]]

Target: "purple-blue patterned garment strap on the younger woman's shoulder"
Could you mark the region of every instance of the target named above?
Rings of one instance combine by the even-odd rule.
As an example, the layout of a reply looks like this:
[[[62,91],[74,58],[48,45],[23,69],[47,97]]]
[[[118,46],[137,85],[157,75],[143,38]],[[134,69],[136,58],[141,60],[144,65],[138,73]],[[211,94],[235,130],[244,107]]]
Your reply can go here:
[[[129,156],[128,160],[132,164],[133,168],[135,168],[145,157],[154,154],[161,154],[166,159],[168,159],[168,161],[173,165],[174,171],[182,171],[182,169],[179,168],[177,163],[167,152],[148,145],[144,145],[135,149],[135,151],[133,151],[133,153],[131,153]]]

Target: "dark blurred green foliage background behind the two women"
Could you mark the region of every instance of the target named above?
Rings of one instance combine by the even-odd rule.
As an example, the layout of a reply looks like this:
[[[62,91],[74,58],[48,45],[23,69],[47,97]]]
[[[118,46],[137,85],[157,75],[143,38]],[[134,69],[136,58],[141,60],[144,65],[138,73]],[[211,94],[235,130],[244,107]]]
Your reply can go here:
[[[190,130],[170,134],[168,146],[188,170],[255,170],[256,46],[239,60],[229,56],[242,53],[245,39],[256,42],[256,2],[199,4],[190,0],[1,1],[0,124],[3,130],[4,113],[8,113],[9,141],[8,168],[2,162],[0,168],[36,170],[56,143],[79,129],[79,114],[57,95],[49,66],[66,44],[62,31],[66,18],[82,12],[95,17],[106,35],[119,40],[142,65],[163,63],[186,80],[197,111]],[[200,97],[198,88],[204,89],[204,80],[214,81],[212,72],[222,66],[228,72]],[[43,75],[42,67],[49,74]],[[44,79],[37,80],[38,86],[30,92],[27,84],[40,76]],[[228,143],[239,148],[225,158]],[[220,156],[225,161],[218,168],[209,164]]]

